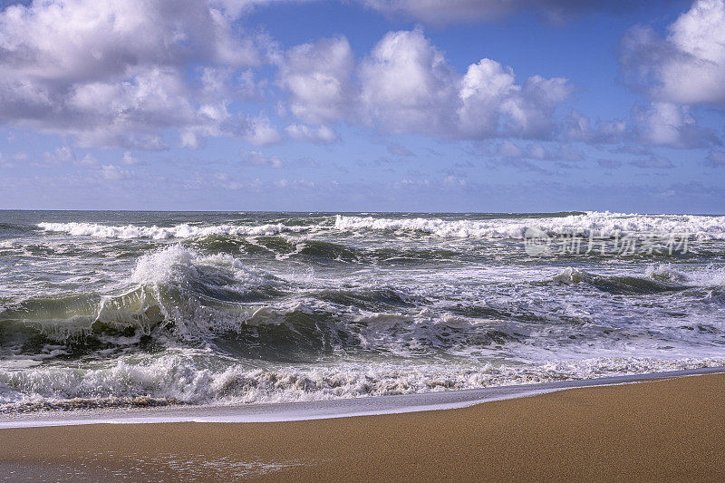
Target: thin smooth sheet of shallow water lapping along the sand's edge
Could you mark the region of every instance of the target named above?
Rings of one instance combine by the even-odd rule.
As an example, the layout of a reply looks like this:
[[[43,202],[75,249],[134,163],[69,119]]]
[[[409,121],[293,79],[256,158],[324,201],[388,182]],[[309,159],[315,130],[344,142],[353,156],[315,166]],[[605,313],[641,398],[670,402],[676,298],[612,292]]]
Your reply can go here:
[[[0,430],[88,424],[163,424],[183,422],[288,422],[379,416],[467,408],[491,401],[527,398],[575,388],[600,387],[725,373],[725,366],[648,372],[562,382],[536,382],[481,389],[421,392],[353,399],[261,404],[170,405],[0,414]]]

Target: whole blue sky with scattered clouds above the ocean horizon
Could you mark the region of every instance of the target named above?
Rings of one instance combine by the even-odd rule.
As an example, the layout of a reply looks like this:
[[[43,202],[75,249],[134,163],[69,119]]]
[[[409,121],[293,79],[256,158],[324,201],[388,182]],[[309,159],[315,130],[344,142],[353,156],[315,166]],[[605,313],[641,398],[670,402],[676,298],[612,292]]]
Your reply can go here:
[[[725,0],[0,0],[0,208],[725,213]]]

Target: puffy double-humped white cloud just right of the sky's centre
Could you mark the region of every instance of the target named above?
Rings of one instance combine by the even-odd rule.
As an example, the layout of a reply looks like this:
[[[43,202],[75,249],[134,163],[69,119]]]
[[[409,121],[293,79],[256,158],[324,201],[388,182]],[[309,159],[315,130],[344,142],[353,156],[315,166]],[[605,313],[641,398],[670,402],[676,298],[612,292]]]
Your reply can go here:
[[[420,30],[391,32],[361,66],[364,119],[393,132],[485,139],[546,137],[569,95],[565,79],[532,76],[517,84],[490,59],[460,75]]]

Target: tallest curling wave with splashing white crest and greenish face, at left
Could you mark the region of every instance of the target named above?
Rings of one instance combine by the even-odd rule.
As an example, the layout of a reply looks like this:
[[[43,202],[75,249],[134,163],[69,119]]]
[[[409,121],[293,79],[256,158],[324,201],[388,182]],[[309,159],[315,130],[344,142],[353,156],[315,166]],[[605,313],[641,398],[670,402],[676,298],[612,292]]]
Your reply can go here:
[[[141,256],[127,282],[131,289],[117,295],[60,295],[10,304],[0,311],[0,341],[11,353],[48,358],[108,355],[112,348],[167,335],[204,340],[237,329],[256,311],[240,304],[268,300],[285,285],[232,256],[200,256],[180,246]]]

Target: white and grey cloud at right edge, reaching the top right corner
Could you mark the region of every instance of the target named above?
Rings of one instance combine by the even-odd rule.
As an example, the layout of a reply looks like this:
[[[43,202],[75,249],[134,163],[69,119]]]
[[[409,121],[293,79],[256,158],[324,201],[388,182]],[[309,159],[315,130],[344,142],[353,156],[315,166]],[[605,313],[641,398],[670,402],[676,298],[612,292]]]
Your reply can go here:
[[[725,106],[723,24],[725,0],[697,0],[665,37],[642,25],[630,29],[620,45],[624,81],[649,102],[626,120],[592,121],[572,111],[568,139],[678,149],[719,145],[716,133],[698,124],[696,111],[703,104]]]

